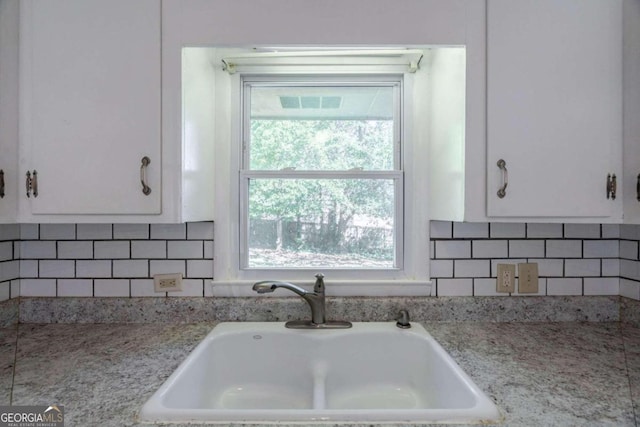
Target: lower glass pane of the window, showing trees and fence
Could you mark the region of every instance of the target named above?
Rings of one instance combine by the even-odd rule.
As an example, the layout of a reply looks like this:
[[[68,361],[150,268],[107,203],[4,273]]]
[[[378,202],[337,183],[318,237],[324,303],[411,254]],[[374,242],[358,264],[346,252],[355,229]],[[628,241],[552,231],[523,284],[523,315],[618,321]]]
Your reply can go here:
[[[393,179],[251,179],[249,268],[394,268]]]

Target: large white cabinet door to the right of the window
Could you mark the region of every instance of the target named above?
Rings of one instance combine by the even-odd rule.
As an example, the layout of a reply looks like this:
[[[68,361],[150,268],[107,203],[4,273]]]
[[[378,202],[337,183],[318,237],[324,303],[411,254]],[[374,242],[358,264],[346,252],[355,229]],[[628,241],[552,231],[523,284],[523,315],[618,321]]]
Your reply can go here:
[[[607,200],[606,179],[621,175],[621,1],[487,7],[488,215],[612,215],[620,209]]]

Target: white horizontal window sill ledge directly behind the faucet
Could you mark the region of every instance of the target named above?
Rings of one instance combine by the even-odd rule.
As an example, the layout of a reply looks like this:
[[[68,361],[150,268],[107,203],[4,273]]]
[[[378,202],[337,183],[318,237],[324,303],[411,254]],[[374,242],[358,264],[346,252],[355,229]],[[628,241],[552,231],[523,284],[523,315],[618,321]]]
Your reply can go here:
[[[211,296],[214,297],[248,297],[258,296],[251,288],[254,281],[216,281],[209,283]],[[296,285],[305,289],[313,288],[313,281],[295,281]],[[422,280],[336,280],[326,283],[326,295],[331,296],[431,296],[432,282]],[[286,297],[294,295],[291,292],[280,291],[260,297]]]

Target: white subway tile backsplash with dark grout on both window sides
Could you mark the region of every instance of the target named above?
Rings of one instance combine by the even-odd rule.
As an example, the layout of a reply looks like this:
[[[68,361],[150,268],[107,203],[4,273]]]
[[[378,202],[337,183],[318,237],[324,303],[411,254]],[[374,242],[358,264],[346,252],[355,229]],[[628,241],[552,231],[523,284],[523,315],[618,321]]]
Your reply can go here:
[[[538,263],[533,295],[633,297],[640,286],[640,226],[432,221],[431,232],[440,296],[508,296],[495,292],[498,263]],[[0,300],[22,283],[24,296],[211,296],[213,234],[212,222],[0,225]],[[183,292],[154,292],[154,274],[176,272]]]

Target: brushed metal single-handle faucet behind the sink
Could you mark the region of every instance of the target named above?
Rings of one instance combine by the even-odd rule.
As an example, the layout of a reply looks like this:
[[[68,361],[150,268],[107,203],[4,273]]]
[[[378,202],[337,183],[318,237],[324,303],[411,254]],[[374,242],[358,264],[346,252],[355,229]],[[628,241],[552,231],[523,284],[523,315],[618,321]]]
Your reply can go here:
[[[327,321],[325,313],[324,275],[316,274],[316,283],[313,292],[309,292],[300,286],[278,280],[263,280],[253,284],[253,290],[259,294],[273,292],[278,288],[288,289],[302,297],[311,308],[311,321],[292,320],[285,324],[292,329],[340,329],[350,328],[350,322]]]

